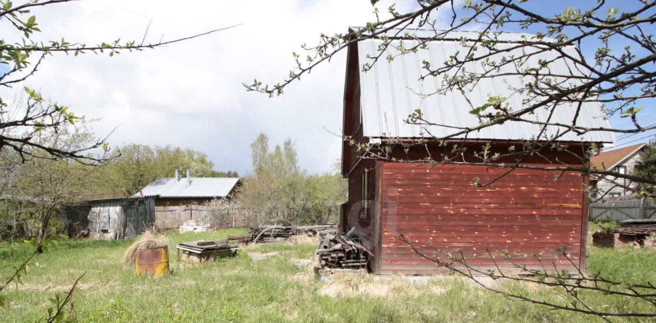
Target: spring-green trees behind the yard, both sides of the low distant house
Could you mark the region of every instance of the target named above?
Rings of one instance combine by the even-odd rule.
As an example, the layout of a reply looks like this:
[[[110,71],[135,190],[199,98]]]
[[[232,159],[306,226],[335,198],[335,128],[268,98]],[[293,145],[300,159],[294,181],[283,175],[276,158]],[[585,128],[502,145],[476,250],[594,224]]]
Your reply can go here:
[[[97,142],[84,121],[35,133],[39,145],[63,151]],[[251,149],[253,172],[243,177],[232,203],[266,210],[337,206],[346,200],[346,181],[337,171],[308,174],[298,166],[291,140],[270,149],[268,137],[260,134]],[[104,145],[101,150],[81,161],[52,158],[30,147],[22,153],[12,147],[0,149],[0,238],[16,231],[16,223],[25,224],[24,231],[31,231],[27,235],[43,237],[49,226],[60,224],[58,219],[67,207],[133,195],[157,178],[173,177],[175,167],[190,168],[194,177],[239,177],[234,171],[214,170],[207,154],[194,149],[131,143],[115,148]],[[16,237],[15,232],[9,233]]]

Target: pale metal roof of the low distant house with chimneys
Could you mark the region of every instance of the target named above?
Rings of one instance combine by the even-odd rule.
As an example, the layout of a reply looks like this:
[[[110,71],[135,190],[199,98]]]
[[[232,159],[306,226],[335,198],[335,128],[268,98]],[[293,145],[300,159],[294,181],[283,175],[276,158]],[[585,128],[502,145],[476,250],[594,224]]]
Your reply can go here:
[[[144,195],[167,197],[227,197],[239,178],[159,178],[142,189]],[[133,196],[138,196],[136,193]]]

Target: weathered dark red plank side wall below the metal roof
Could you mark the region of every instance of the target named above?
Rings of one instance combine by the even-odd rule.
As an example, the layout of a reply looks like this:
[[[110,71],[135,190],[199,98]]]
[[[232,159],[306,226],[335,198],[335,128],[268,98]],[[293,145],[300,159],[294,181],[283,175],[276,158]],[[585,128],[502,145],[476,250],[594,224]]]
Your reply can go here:
[[[533,269],[544,266],[575,271],[560,252],[584,269],[583,184],[577,172],[516,169],[487,187],[506,169],[379,162],[380,267],[377,273],[434,273],[437,265],[400,240],[402,234],[426,256],[457,256],[478,269]],[[542,165],[553,166],[553,165]],[[582,255],[583,250],[583,257]],[[504,259],[507,252],[512,259]],[[535,254],[540,254],[539,259]]]

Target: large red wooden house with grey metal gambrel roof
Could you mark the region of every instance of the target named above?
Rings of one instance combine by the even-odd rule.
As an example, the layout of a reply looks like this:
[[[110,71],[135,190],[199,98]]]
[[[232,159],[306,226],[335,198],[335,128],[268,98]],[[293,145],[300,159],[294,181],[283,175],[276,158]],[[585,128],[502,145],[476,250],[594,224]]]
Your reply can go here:
[[[403,35],[403,32],[390,33]],[[434,37],[434,31],[415,31],[419,38]],[[502,46],[525,42],[521,33],[504,33]],[[461,159],[473,161],[472,151],[482,145],[491,145],[491,154],[507,153],[510,147],[522,147],[523,140],[537,136],[539,127],[529,123],[506,121],[477,132],[448,140],[446,146],[428,143],[427,147],[415,147],[405,151],[398,143],[422,140],[430,131],[436,136],[453,134],[453,128],[444,126],[420,126],[403,122],[415,109],[421,108],[424,116],[434,124],[469,127],[477,126],[478,120],[469,113],[468,102],[474,107],[487,103],[488,95],[512,96],[507,84],[522,82],[512,76],[483,79],[468,91],[420,97],[417,93],[430,92],[440,82],[428,79],[419,81],[422,62],[430,62],[433,68],[443,65],[449,56],[465,53],[462,39],[476,39],[479,33],[451,33],[449,39],[428,41],[426,49],[396,56],[391,62],[379,60],[369,71],[362,65],[371,62],[379,53],[381,40],[371,39],[352,43],[348,47],[346,84],[344,87],[344,136],[355,142],[372,145],[377,151],[388,151],[390,159],[362,158],[363,150],[346,141],[342,146],[342,175],[348,178],[348,202],[342,206],[342,229],[352,230],[362,243],[371,250],[370,266],[374,273],[409,275],[430,274],[440,271],[438,265],[418,252],[428,256],[447,254],[466,258],[476,269],[508,269],[518,271],[514,265],[527,268],[585,270],[587,210],[584,185],[588,176],[579,172],[555,172],[546,170],[515,169],[510,174],[485,187],[472,185],[474,178],[489,181],[501,176],[507,169],[487,166],[455,164],[425,164],[428,153],[440,160],[453,145],[466,146]],[[529,38],[530,39],[530,38]],[[394,54],[394,45],[380,57]],[[403,41],[405,48],[416,42]],[[565,52],[577,55],[575,48],[564,47]],[[549,62],[550,69],[568,73],[567,64],[553,61],[552,53],[543,52],[537,61]],[[468,70],[480,66],[470,64]],[[504,68],[501,67],[503,72]],[[515,94],[518,95],[518,94]],[[521,104],[513,100],[511,104]],[[518,106],[512,106],[518,109]],[[602,117],[600,105],[584,104],[577,118],[578,125],[596,128],[608,126]],[[559,107],[553,123],[570,123],[576,110],[571,105]],[[546,117],[548,111],[538,109],[538,117]],[[555,131],[549,130],[550,134]],[[535,166],[569,164],[583,166],[585,151],[593,143],[612,143],[612,134],[587,132],[578,135],[569,132],[560,137],[567,144],[567,151],[543,149],[542,156],[531,155],[525,163]],[[514,162],[516,157],[495,162]],[[553,164],[552,164],[553,163]],[[556,180],[557,178],[557,180]],[[400,237],[403,235],[405,240]],[[411,246],[409,246],[409,244]],[[559,250],[565,247],[573,264]],[[512,259],[504,259],[504,254]],[[540,259],[533,255],[539,254]],[[492,256],[495,258],[493,259]],[[498,266],[498,267],[497,267]]]

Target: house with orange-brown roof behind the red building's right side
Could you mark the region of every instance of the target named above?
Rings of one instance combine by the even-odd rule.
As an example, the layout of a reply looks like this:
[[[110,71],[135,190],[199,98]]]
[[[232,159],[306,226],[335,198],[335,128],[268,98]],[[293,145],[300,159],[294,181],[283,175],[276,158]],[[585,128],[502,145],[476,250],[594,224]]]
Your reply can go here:
[[[633,174],[636,164],[640,161],[640,152],[647,147],[646,143],[600,151],[590,158],[592,166],[598,170],[609,170],[619,174]],[[624,197],[633,195],[630,187],[632,181],[615,176],[595,176],[590,179],[590,186],[596,187],[597,197]]]

